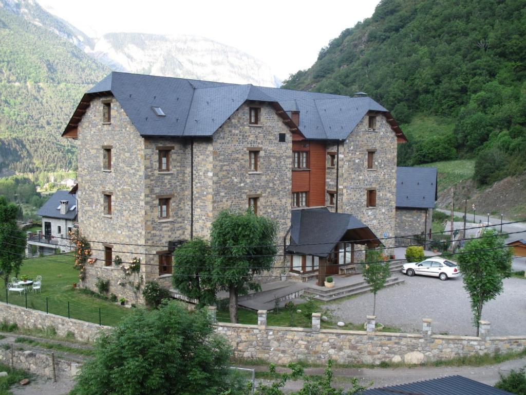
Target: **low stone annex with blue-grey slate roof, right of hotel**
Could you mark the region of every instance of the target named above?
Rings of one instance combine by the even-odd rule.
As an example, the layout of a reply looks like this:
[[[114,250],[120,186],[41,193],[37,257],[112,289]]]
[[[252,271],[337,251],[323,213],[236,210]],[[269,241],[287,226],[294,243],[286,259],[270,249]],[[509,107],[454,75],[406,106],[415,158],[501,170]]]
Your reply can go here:
[[[403,167],[396,171],[396,236],[431,232],[437,201],[436,167]]]

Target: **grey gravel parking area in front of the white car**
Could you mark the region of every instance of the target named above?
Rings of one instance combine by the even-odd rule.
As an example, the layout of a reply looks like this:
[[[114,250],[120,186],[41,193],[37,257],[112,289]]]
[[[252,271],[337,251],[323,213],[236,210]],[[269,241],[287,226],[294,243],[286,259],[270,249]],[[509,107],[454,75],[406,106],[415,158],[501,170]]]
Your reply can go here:
[[[404,332],[420,332],[422,318],[433,320],[434,333],[476,334],[472,312],[462,278],[440,281],[434,277],[408,277],[404,284],[380,290],[376,296],[377,322],[401,328]],[[484,304],[482,319],[491,322],[494,335],[526,334],[526,280],[504,280],[504,291]],[[365,322],[372,314],[372,294],[366,293],[343,302],[332,302],[327,308],[343,322]]]

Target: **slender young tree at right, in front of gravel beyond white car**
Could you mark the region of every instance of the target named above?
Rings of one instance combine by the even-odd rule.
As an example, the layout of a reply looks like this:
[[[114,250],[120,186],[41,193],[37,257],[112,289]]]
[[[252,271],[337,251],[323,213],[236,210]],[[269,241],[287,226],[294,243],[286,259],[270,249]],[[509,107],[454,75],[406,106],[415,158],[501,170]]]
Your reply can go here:
[[[511,276],[511,258],[504,237],[493,229],[484,230],[481,239],[470,240],[460,251],[459,269],[471,299],[477,336],[484,303],[495,299],[504,289],[502,280]]]

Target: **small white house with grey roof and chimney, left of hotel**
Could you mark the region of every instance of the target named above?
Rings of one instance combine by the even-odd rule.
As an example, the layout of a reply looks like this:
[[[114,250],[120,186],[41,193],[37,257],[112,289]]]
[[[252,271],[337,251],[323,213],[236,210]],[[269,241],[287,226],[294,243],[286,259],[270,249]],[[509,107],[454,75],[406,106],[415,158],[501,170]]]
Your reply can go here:
[[[37,233],[27,232],[27,255],[31,256],[31,245],[38,248],[38,253],[52,254],[56,249],[70,251],[69,231],[77,220],[77,197],[69,191],[57,191],[37,211],[42,216],[42,230]]]

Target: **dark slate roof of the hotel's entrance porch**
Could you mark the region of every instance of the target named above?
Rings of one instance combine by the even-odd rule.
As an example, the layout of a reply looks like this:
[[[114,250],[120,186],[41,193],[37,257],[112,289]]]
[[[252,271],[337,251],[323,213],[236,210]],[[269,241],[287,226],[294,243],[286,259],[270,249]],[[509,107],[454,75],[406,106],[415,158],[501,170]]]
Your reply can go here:
[[[368,226],[351,214],[325,208],[292,210],[290,223],[290,253],[325,257],[350,230],[360,231],[357,240],[376,239],[369,244],[381,244]]]

